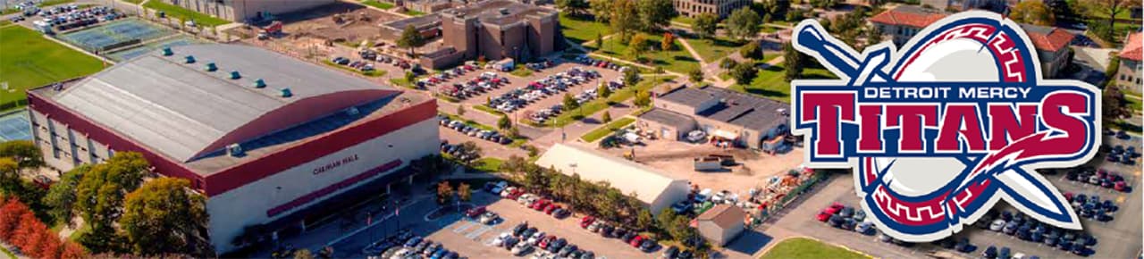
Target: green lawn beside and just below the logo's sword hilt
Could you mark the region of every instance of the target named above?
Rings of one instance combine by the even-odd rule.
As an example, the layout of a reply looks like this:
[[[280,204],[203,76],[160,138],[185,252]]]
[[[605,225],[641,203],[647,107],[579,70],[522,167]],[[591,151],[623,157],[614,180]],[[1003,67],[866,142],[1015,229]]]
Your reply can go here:
[[[750,84],[732,84],[731,90],[757,95],[784,103],[791,103],[791,82],[782,76],[786,72],[782,66],[771,66],[758,71]],[[805,68],[802,71],[803,79],[832,79],[834,74],[824,68]]]

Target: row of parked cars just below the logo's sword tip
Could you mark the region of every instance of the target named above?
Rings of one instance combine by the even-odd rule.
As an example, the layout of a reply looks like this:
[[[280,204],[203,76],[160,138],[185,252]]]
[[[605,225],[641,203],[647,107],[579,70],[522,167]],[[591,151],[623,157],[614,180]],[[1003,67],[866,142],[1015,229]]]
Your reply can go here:
[[[1080,196],[1078,195],[1074,199]],[[991,210],[978,219],[975,226],[1012,235],[1019,240],[1043,243],[1049,248],[1070,251],[1078,256],[1091,254],[1091,246],[1097,243],[1096,237],[1088,233],[1058,228],[1020,212],[996,212]]]

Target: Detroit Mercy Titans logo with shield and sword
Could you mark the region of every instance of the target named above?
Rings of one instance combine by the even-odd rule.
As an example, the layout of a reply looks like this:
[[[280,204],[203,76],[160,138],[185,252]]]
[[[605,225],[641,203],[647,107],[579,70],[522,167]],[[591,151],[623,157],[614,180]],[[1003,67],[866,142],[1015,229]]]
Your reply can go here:
[[[807,163],[851,168],[861,207],[883,232],[939,240],[1006,200],[1038,220],[1080,220],[1034,170],[1088,161],[1101,145],[1101,95],[1088,83],[1044,80],[1036,50],[1012,21],[952,15],[899,50],[857,52],[815,21],[795,49],[839,80],[791,82],[791,124]]]

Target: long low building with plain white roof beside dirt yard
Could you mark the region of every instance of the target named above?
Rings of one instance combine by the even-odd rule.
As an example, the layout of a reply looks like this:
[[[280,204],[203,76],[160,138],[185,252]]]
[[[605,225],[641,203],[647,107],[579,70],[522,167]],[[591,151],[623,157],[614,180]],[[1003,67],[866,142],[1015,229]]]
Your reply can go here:
[[[579,173],[580,179],[589,181],[606,181],[623,194],[634,193],[652,215],[659,215],[673,203],[688,199],[691,192],[685,179],[672,178],[658,169],[578,146],[553,145],[537,160],[537,164],[555,168],[564,175]]]

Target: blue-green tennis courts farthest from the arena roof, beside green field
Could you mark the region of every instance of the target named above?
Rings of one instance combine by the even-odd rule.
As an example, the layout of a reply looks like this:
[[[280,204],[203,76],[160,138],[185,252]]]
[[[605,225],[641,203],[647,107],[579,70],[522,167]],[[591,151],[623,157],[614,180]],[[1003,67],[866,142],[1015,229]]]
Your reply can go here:
[[[88,51],[103,51],[145,40],[159,39],[170,34],[175,34],[175,32],[170,29],[140,19],[128,18],[78,32],[66,33],[59,35],[59,39]]]

